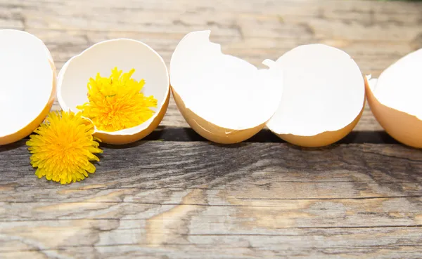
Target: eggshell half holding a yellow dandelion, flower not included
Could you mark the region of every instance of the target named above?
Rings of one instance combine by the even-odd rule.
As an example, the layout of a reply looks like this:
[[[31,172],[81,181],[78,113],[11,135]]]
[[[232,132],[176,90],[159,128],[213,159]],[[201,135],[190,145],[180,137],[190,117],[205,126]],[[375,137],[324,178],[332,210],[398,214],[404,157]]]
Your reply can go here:
[[[154,131],[167,111],[170,100],[170,79],[164,60],[150,46],[133,39],[101,41],[68,60],[58,74],[57,98],[65,111],[80,112],[78,105],[88,102],[87,83],[97,73],[108,77],[111,70],[129,72],[134,68],[132,79],[145,79],[142,92],[157,99],[153,117],[139,126],[120,131],[100,131],[94,135],[108,144],[127,144],[140,140]]]

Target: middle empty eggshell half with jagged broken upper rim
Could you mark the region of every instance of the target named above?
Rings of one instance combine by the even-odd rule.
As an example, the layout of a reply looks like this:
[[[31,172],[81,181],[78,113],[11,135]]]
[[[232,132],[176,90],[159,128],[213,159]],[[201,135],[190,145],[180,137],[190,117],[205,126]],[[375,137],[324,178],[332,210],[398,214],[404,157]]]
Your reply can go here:
[[[246,140],[264,128],[283,91],[279,67],[257,69],[225,55],[210,31],[184,36],[170,62],[174,100],[184,119],[212,142]]]

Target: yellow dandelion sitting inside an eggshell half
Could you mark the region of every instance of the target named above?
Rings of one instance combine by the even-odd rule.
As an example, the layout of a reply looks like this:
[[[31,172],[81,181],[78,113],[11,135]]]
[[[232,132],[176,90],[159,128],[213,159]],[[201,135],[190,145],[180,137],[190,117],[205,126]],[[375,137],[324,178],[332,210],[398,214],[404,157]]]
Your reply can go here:
[[[135,69],[122,74],[117,67],[111,70],[111,76],[89,79],[89,102],[77,106],[82,116],[91,119],[100,131],[120,131],[138,126],[150,119],[157,107],[157,100],[151,95],[141,93],[145,81],[131,79]]]

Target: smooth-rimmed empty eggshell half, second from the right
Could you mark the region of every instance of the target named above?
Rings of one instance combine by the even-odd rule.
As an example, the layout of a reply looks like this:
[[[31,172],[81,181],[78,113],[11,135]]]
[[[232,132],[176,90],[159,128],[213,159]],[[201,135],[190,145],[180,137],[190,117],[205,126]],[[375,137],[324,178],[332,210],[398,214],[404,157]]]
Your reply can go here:
[[[365,86],[350,55],[324,44],[308,44],[265,63],[283,69],[283,96],[267,123],[280,138],[302,147],[322,147],[356,126],[364,109]]]

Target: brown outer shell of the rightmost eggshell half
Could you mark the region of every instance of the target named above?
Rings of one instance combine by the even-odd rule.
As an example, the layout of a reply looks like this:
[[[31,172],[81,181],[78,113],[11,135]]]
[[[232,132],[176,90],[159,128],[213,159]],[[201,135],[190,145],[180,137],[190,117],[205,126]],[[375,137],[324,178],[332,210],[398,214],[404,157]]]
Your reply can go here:
[[[365,77],[366,98],[378,123],[392,138],[404,145],[422,148],[422,121],[417,117],[383,105],[373,95]]]

